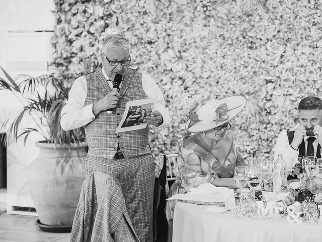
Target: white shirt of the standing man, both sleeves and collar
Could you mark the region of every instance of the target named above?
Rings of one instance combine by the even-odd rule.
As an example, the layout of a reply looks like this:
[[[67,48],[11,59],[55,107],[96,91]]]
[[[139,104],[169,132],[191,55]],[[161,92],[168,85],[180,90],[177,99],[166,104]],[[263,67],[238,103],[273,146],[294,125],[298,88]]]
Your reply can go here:
[[[106,80],[109,80],[107,77],[104,68],[102,68],[103,75]],[[113,88],[113,82],[108,81],[111,89]],[[122,87],[122,83],[120,88]],[[153,105],[153,111],[159,111],[163,116],[163,124],[158,126],[158,129],[166,128],[170,125],[170,115],[168,110],[165,107],[165,99],[163,93],[158,88],[154,80],[145,74],[142,74],[142,87],[147,98],[156,97],[157,101]],[[61,110],[61,119],[60,125],[63,130],[73,130],[82,126],[87,125],[92,120],[95,119],[93,113],[93,103],[84,106],[85,99],[87,96],[87,82],[85,76],[78,77],[72,84],[68,100],[66,105]]]

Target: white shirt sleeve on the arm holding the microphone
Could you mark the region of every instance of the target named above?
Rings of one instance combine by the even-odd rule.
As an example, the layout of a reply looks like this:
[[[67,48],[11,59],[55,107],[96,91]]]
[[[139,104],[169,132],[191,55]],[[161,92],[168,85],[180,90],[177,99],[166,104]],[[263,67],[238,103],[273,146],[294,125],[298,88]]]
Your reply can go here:
[[[61,110],[60,126],[72,130],[87,125],[95,119],[93,103],[84,106],[87,96],[87,83],[84,76],[77,78],[70,88],[66,105]]]

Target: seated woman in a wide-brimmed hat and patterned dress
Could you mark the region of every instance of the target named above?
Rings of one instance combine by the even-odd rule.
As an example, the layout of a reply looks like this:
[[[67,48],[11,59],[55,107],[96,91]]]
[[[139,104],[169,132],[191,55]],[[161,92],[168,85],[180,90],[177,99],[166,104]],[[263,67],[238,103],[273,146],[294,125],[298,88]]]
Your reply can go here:
[[[226,131],[229,120],[244,108],[244,96],[212,100],[199,110],[191,110],[186,130],[196,134],[186,136],[178,155],[182,186],[189,190],[202,183],[238,188],[233,181],[235,166],[244,166],[240,148]]]

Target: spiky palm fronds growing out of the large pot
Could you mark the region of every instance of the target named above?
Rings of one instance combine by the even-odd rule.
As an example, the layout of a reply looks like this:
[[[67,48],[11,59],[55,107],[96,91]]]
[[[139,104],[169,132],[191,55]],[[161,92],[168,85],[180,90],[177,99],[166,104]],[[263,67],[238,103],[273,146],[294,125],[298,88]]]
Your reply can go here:
[[[23,104],[18,111],[12,111],[6,117],[1,127],[6,127],[9,138],[13,138],[15,142],[24,137],[26,143],[28,136],[37,132],[47,143],[69,144],[85,141],[84,128],[65,132],[60,127],[60,112],[68,98],[68,89],[53,74],[37,78],[20,75],[14,80],[3,68],[1,70],[8,81],[0,78],[0,91],[11,91]],[[24,118],[32,118],[34,125],[21,129]],[[5,140],[3,142],[6,143]]]

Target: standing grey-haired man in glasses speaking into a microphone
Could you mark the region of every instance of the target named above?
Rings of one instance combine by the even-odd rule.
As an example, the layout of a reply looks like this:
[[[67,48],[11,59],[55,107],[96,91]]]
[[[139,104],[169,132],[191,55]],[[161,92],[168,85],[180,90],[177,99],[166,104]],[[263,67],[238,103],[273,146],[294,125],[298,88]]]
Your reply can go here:
[[[61,112],[61,127],[85,126],[89,146],[87,174],[112,172],[119,181],[125,204],[140,241],[152,241],[154,162],[148,127],[115,134],[128,101],[156,97],[152,115],[143,122],[158,128],[170,124],[162,92],[153,79],[129,68],[130,43],[122,35],[103,42],[102,68],[75,80]],[[112,91],[116,74],[122,75],[120,92]],[[112,114],[106,112],[113,109]]]

